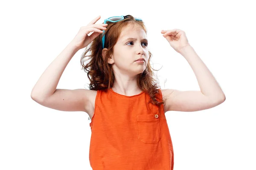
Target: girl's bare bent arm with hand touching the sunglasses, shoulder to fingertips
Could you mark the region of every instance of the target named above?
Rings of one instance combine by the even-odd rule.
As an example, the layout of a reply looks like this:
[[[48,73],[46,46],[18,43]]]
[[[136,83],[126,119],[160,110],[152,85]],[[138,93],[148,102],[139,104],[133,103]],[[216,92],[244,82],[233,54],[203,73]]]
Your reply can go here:
[[[85,111],[88,113],[92,105],[89,102],[89,96],[94,95],[95,91],[56,89],[56,87],[64,69],[76,52],[89,45],[99,34],[102,34],[102,30],[106,30],[106,24],[95,24],[99,18],[100,16],[93,19],[87,26],[81,27],[76,37],[47,67],[32,89],[31,98],[35,102],[60,111]],[[87,34],[90,32],[93,34],[88,36]]]

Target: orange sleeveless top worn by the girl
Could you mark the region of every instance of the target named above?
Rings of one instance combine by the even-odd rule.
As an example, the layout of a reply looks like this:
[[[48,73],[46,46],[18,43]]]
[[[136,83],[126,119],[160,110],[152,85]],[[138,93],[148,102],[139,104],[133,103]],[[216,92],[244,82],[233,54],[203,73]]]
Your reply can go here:
[[[162,98],[162,93],[159,93]],[[90,123],[93,170],[173,170],[172,139],[161,105],[145,92],[124,96],[97,91]]]

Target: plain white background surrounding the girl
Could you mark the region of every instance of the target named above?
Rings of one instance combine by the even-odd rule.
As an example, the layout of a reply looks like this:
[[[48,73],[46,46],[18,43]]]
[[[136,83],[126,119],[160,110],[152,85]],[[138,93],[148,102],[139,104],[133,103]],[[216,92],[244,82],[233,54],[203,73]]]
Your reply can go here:
[[[146,25],[151,64],[163,66],[157,71],[162,88],[200,90],[186,59],[160,33],[178,28],[226,95],[215,108],[166,113],[174,170],[256,170],[254,7],[249,0],[1,1],[0,169],[91,169],[88,114],[46,108],[30,94],[81,26],[98,15],[103,23],[131,14]],[[57,88],[87,88],[83,51],[71,59]]]

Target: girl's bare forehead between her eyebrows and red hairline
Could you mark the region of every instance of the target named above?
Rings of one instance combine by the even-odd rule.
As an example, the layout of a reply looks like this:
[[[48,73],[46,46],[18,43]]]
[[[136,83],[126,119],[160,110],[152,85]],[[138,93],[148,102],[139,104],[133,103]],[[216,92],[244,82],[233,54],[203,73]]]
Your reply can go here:
[[[134,37],[134,36],[140,36],[142,38],[147,37],[144,29],[140,25],[138,25],[138,24],[129,24],[128,26],[122,28],[119,40],[124,40],[126,38],[131,38],[131,37]]]

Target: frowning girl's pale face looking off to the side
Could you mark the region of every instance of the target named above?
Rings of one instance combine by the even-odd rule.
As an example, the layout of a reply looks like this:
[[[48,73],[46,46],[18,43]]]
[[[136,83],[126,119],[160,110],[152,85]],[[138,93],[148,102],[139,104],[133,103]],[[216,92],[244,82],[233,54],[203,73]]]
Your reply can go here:
[[[147,35],[141,26],[130,25],[123,28],[108,61],[112,64],[113,71],[132,77],[142,73],[149,58],[147,43]],[[139,58],[145,59],[145,62],[136,62]]]

